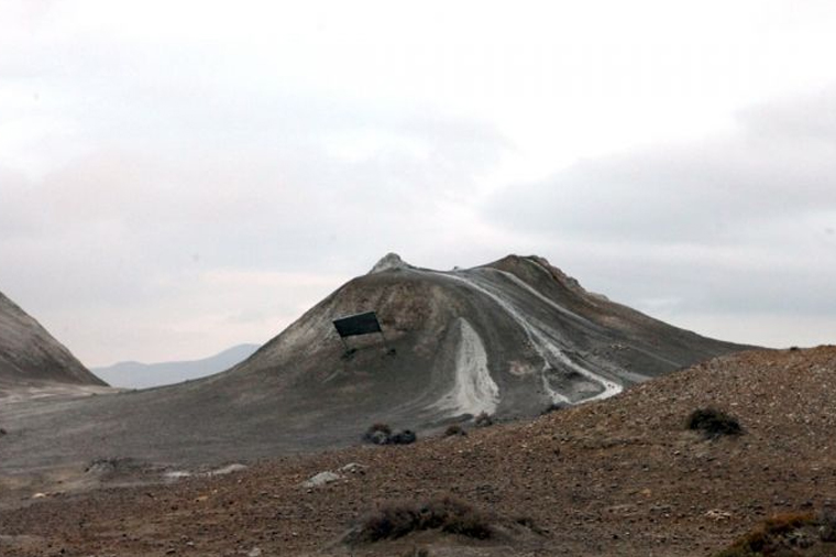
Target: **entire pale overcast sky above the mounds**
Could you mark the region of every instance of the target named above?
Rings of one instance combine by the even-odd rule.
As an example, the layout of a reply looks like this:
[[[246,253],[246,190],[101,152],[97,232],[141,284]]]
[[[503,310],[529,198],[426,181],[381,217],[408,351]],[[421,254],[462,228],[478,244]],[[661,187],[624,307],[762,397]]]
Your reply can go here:
[[[836,340],[836,3],[0,0],[0,291],[89,367],[265,342],[387,252]]]

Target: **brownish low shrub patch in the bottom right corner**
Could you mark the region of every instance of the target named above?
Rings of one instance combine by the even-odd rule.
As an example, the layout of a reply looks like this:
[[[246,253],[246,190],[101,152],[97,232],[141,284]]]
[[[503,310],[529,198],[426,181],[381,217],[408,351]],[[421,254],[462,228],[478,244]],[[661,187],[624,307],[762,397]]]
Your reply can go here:
[[[806,555],[799,550],[825,545],[836,545],[836,514],[790,513],[768,518],[714,557]],[[827,547],[811,555],[834,555],[833,551],[834,547]]]

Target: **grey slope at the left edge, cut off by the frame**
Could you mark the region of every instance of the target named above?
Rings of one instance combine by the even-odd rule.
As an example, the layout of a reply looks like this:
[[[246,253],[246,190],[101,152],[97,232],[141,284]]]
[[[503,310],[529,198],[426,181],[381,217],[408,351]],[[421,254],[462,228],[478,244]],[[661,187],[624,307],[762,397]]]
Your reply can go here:
[[[44,382],[106,384],[35,319],[0,293],[0,391]]]

